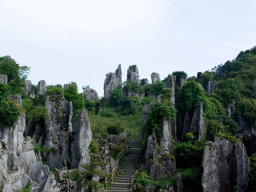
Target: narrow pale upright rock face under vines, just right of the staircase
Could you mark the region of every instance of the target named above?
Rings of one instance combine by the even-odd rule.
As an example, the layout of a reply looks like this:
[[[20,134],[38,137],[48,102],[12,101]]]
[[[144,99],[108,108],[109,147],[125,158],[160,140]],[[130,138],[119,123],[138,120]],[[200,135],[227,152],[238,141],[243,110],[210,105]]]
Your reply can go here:
[[[173,130],[174,129],[174,130]],[[162,151],[160,154],[171,153],[173,150],[172,145],[172,132],[176,132],[176,127],[171,122],[168,122],[166,118],[163,120],[162,136],[160,140],[160,147]]]

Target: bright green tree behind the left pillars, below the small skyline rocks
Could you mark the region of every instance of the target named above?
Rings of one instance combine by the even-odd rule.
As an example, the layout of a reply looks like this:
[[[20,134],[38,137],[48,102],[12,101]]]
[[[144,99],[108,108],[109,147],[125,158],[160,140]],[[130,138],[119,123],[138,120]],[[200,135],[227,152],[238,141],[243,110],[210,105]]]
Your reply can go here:
[[[72,82],[68,85],[68,88],[64,90],[64,98],[72,102],[73,117],[75,117],[76,114],[78,114],[78,111],[84,109],[82,93],[79,94],[77,92],[77,87]]]

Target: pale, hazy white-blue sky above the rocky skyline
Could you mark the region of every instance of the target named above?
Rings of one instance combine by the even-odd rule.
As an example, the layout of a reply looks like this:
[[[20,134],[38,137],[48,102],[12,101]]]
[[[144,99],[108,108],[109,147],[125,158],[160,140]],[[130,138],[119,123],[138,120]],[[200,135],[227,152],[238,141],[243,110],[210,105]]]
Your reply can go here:
[[[255,0],[0,0],[0,56],[32,84],[76,82],[104,96],[108,72],[140,79],[211,70],[256,45]]]

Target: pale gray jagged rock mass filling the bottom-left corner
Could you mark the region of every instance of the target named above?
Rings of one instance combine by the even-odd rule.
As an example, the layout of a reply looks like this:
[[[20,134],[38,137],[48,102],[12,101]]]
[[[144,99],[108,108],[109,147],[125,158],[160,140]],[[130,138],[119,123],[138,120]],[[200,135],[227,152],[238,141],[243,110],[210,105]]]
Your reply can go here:
[[[56,184],[48,166],[36,158],[34,140],[29,136],[24,139],[25,128],[25,115],[13,126],[0,128],[0,190],[3,192],[20,191],[29,182],[32,182],[32,192],[41,192]]]

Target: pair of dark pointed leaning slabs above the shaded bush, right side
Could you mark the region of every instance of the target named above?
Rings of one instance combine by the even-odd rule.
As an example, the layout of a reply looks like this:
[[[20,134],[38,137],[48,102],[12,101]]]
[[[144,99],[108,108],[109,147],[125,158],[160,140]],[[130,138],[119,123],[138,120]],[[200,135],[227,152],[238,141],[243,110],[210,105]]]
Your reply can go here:
[[[188,112],[186,112],[184,120],[180,120],[180,122],[183,122],[181,135],[182,142],[186,141],[186,133],[194,134],[194,140],[204,138],[204,134],[206,133],[206,122],[203,113],[203,104],[202,102],[198,102],[197,107],[194,110],[192,119]],[[181,130],[179,130],[178,135],[179,134],[181,134]]]

